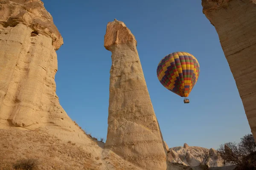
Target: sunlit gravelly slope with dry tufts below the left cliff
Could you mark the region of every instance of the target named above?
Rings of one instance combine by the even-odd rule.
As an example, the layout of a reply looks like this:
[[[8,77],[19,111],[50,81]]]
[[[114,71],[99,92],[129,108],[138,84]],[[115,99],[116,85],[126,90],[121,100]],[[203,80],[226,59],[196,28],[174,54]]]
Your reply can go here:
[[[110,150],[103,150],[103,142],[94,140],[101,150],[95,156],[89,146],[64,142],[38,130],[0,130],[0,170],[13,170],[20,160],[33,159],[40,170],[140,170]],[[31,163],[32,161],[30,161]]]

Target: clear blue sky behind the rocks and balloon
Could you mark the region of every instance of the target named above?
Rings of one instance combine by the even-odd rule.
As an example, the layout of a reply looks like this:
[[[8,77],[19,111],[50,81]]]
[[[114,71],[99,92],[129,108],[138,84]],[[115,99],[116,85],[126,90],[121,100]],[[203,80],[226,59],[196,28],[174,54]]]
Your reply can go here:
[[[123,21],[136,37],[145,80],[169,147],[217,149],[240,141],[250,127],[218,34],[201,0],[43,0],[64,45],[57,51],[57,95],[67,114],[87,133],[106,139],[111,52],[104,48],[108,22]],[[190,103],[157,79],[160,59],[175,51],[193,54],[200,76]]]

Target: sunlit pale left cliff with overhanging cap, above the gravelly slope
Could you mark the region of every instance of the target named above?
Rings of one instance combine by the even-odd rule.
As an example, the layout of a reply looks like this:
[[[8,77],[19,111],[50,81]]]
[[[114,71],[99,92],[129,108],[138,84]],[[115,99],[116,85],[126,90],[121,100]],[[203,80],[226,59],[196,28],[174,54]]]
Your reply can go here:
[[[40,0],[0,1],[1,129],[42,128],[66,141],[91,144],[55,93],[55,50],[62,44]]]

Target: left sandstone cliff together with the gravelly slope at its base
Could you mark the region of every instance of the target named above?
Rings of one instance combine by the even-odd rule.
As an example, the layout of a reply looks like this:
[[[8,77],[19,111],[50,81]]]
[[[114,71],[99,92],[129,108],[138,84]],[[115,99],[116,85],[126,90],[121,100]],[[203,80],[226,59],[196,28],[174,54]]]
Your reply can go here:
[[[141,170],[103,150],[61,107],[62,44],[41,0],[0,0],[0,169],[32,157],[42,170]]]

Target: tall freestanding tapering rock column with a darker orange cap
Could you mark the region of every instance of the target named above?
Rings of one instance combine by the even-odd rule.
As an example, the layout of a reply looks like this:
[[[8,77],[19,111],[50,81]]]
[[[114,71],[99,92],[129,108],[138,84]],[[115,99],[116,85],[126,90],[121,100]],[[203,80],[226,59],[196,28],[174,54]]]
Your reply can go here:
[[[104,46],[112,52],[105,148],[147,170],[166,170],[165,144],[148,94],[137,41],[121,21],[108,23]]]

